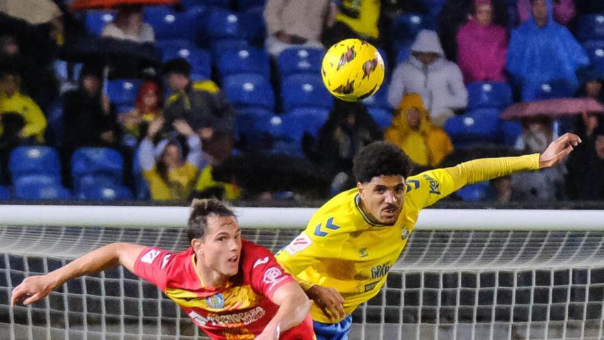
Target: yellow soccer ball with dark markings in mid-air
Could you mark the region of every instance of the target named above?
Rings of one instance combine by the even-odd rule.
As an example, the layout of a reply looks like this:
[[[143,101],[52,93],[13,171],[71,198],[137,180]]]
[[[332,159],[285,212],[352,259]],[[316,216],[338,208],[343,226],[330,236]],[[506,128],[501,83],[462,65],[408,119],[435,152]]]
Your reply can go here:
[[[347,102],[363,100],[380,89],[384,81],[384,60],[367,41],[342,40],[323,57],[321,77],[336,98]]]

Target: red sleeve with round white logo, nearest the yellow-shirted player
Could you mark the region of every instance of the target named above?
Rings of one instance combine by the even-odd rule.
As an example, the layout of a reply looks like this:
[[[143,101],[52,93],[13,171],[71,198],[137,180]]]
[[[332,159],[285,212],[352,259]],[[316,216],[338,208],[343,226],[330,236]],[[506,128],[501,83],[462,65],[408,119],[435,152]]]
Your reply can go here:
[[[251,268],[246,270],[251,271],[250,282],[255,291],[272,299],[272,295],[279,287],[294,282],[294,279],[279,266],[270,251],[262,247],[255,247],[252,256],[254,260],[248,262]]]

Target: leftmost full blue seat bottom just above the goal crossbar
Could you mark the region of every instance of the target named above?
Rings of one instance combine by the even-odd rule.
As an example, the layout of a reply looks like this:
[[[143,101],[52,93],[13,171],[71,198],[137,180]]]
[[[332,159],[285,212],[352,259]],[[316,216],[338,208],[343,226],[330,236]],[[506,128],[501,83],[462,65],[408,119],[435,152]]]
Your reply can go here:
[[[71,192],[45,175],[28,175],[13,183],[17,199],[70,199]]]

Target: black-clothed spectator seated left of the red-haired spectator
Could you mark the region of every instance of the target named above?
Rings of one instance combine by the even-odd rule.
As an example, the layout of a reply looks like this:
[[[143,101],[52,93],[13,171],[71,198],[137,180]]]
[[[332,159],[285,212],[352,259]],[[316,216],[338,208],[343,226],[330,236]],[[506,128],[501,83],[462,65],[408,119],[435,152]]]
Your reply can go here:
[[[63,105],[63,145],[65,161],[84,146],[116,147],[119,127],[115,106],[102,93],[102,69],[84,65],[78,89],[65,93]],[[67,164],[67,163],[66,163]]]

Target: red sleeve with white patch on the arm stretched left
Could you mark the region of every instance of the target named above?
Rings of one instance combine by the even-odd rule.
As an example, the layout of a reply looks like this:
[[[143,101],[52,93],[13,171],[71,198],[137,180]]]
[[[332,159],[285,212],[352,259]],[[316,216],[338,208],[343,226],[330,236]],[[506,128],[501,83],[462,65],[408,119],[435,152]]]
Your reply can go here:
[[[174,253],[163,249],[148,247],[141,252],[135,262],[135,275],[141,277],[165,291],[170,279]]]

